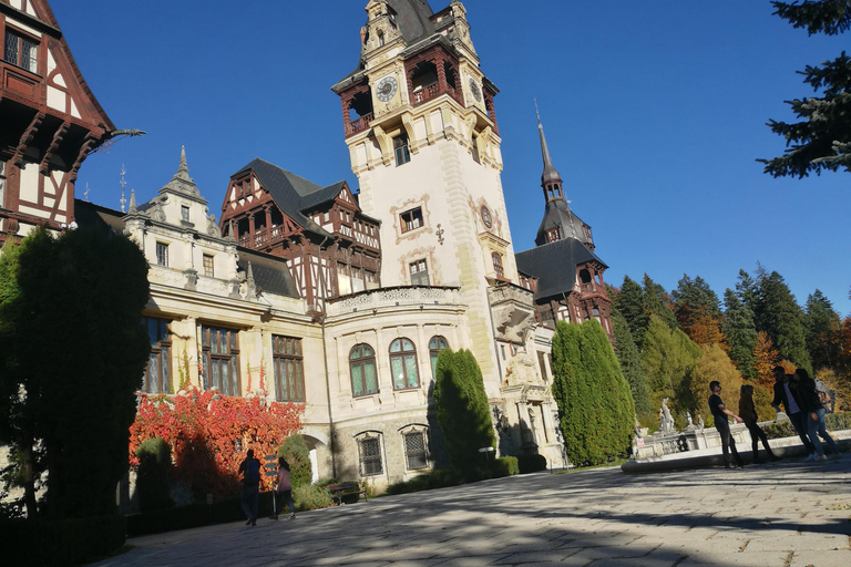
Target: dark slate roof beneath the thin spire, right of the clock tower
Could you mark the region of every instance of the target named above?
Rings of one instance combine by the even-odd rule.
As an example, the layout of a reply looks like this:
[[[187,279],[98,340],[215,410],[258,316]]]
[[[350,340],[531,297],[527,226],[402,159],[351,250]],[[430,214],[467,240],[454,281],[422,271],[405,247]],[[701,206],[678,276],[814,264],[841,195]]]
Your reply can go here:
[[[576,266],[586,261],[606,264],[575,238],[556,240],[514,255],[517,269],[537,278],[535,299],[570,293],[576,284]]]

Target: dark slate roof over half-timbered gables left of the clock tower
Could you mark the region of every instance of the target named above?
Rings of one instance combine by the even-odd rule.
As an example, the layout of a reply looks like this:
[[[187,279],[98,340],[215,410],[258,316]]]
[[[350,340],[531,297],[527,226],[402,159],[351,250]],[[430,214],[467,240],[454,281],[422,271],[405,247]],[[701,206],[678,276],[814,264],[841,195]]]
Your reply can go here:
[[[306,208],[306,202],[310,203],[310,206],[316,206],[319,203],[325,203],[336,197],[342,187],[342,182],[337,182],[328,187],[320,187],[259,157],[255,157],[252,163],[236,172],[233,177],[249,169],[254,171],[263,186],[271,195],[271,198],[275,199],[275,204],[289,218],[311,233],[320,236],[331,236],[327,230],[314,223],[311,218],[303,215],[301,210]]]

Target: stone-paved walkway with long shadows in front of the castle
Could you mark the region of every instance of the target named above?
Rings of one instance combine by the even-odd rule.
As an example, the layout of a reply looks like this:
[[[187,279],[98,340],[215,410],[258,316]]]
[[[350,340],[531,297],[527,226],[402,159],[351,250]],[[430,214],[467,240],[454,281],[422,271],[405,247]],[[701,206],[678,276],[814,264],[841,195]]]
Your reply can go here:
[[[101,566],[851,565],[851,456],[619,468],[466,486],[133,538]]]

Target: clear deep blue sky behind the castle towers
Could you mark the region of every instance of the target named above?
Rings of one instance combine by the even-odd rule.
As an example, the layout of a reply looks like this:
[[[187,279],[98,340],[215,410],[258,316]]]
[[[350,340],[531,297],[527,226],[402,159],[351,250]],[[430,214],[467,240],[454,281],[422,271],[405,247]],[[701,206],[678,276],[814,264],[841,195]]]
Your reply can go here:
[[[449,0],[431,0],[433,10]],[[445,3],[444,3],[445,2]],[[147,131],[91,155],[78,197],[119,208],[189,173],[221,216],[229,176],[262,157],[320,185],[357,188],[339,99],[367,0],[52,0],[72,53],[116,127]],[[297,8],[296,8],[297,6]],[[739,269],[777,270],[803,303],[821,289],[851,313],[851,174],[775,179],[758,157],[783,141],[765,123],[810,95],[796,73],[849,34],[808,37],[768,0],[468,0],[495,100],[516,250],[543,215],[533,99],[574,212],[592,225],[605,277],[684,274],[721,296]]]

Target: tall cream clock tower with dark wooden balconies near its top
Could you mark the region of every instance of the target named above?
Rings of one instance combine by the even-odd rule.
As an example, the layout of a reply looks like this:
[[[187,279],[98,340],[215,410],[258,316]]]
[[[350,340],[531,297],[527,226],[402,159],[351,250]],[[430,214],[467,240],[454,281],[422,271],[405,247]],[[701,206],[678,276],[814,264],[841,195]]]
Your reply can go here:
[[[494,289],[520,289],[500,179],[499,89],[480,69],[460,1],[433,12],[426,0],[370,0],[366,11],[358,68],[332,90],[360,206],[381,221],[381,284],[460,288],[468,343],[450,347],[472,350],[498,398],[501,348],[523,343],[493,309]]]

